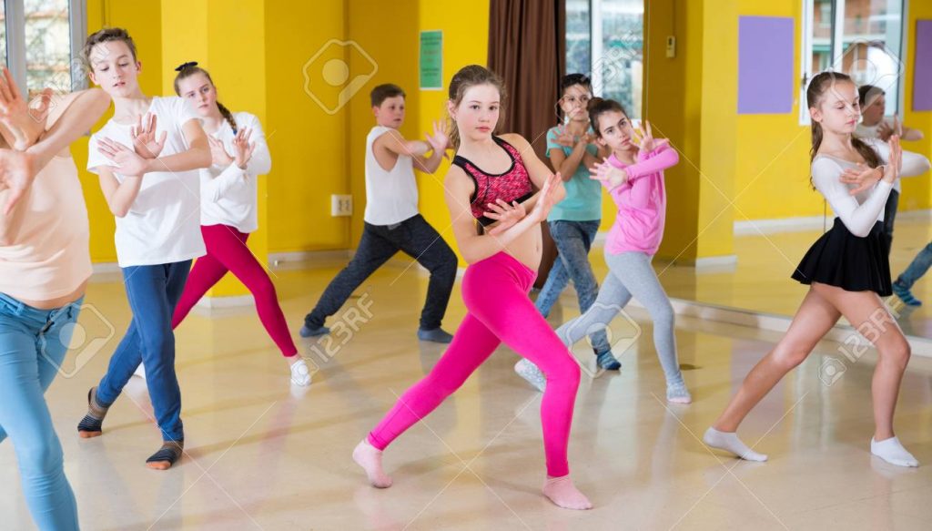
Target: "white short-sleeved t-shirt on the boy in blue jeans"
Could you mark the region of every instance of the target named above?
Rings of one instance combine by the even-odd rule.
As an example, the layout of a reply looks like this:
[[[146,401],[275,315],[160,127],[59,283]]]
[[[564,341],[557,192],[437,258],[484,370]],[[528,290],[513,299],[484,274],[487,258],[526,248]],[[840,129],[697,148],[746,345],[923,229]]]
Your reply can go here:
[[[156,116],[158,135],[168,132],[159,157],[187,150],[182,126],[199,117],[189,102],[177,96],[154,97],[148,109]],[[97,150],[101,138],[109,138],[132,147],[130,125],[113,119],[90,136],[88,171],[99,173],[98,166],[115,166]],[[158,265],[196,259],[205,254],[200,235],[200,180],[198,170],[187,172],[151,172],[143,176],[139,195],[125,217],[117,217],[119,267]],[[117,174],[123,182],[123,176]]]

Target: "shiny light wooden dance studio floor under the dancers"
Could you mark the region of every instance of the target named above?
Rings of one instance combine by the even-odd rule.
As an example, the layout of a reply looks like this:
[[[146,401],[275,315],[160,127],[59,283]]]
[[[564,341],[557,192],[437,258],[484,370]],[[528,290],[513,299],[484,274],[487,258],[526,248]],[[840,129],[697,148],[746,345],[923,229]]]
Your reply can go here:
[[[795,289],[786,279],[788,264],[776,263],[775,270],[783,274],[784,290]],[[336,271],[276,272],[295,328]],[[75,433],[87,390],[103,374],[130,318],[120,284],[91,285],[80,320],[84,341],[69,359],[83,357],[48,391],[83,527],[920,530],[932,522],[930,360],[913,360],[897,424],[898,436],[924,467],[896,468],[871,458],[871,356],[847,364],[827,385],[820,369],[837,355],[829,343],[742,426],[746,440],[758,441],[756,448],[771,460],[738,462],[710,452],[697,436],[779,336],[679,319],[680,362],[695,402],[668,407],[651,325],[637,313],[637,325],[613,324],[623,370],[585,376],[577,401],[570,464],[594,510],[559,510],[541,497],[540,396],[514,375],[516,357],[507,348],[389,448],[385,461],[395,484],[372,489],[349,458],[352,447],[443,352],[415,339],[425,290],[426,278],[414,269],[377,272],[360,290],[364,299],[350,302],[371,311],[356,321],[358,330],[348,327],[329,351],[318,342],[301,343],[320,369],[304,394],[291,392],[284,364],[252,309],[192,315],[177,331],[188,456],[157,472],[144,467],[159,437],[138,379],[111,408],[103,437],[80,440]],[[731,297],[750,300],[752,294],[734,289]],[[552,315],[555,325],[578,313],[572,298],[566,294],[567,303]],[[446,327],[456,328],[464,312],[458,285]],[[575,353],[591,368],[584,344]],[[0,444],[0,469],[6,484],[0,528],[32,528],[8,442]]]

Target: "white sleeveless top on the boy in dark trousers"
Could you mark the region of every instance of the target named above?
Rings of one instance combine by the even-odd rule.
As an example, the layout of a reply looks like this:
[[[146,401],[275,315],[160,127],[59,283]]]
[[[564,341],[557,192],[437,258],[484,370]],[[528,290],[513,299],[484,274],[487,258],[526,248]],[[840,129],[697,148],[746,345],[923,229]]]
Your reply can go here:
[[[397,133],[391,127],[377,125],[365,138],[365,215],[372,225],[393,225],[418,215],[418,183],[414,177],[414,159],[399,155],[391,170],[376,160],[372,145],[383,134]]]

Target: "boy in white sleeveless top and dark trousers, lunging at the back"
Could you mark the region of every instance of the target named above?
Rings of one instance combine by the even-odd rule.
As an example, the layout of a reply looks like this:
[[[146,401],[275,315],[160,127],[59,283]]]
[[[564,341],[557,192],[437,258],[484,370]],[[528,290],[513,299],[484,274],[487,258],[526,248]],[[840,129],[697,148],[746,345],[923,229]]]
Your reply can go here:
[[[324,290],[317,306],[304,318],[301,337],[327,334],[323,326],[373,272],[399,251],[431,272],[427,300],[420,314],[418,339],[448,343],[453,336],[440,328],[457,276],[457,257],[440,234],[418,213],[418,170],[437,171],[449,140],[435,123],[427,142],[405,140],[404,91],[379,85],[370,94],[376,127],[365,141],[365,226],[356,255]],[[430,157],[426,154],[432,151]]]

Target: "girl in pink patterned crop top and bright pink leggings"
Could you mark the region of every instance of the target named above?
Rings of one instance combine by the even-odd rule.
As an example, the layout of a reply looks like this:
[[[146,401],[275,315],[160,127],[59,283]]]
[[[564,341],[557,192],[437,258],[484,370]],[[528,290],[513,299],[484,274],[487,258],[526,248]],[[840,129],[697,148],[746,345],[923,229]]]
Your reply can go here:
[[[541,401],[547,480],[543,494],[566,509],[592,504],[569,479],[567,445],[580,370],[528,299],[541,261],[541,222],[566,195],[518,134],[494,136],[502,99],[500,77],[478,65],[450,81],[447,110],[457,156],[445,179],[453,232],[469,263],[462,282],[469,313],[436,366],[408,389],[353,451],[376,487],[391,486],[382,451],[456,391],[504,342],[547,375]],[[533,193],[533,188],[541,189]],[[476,231],[473,219],[482,226]]]

